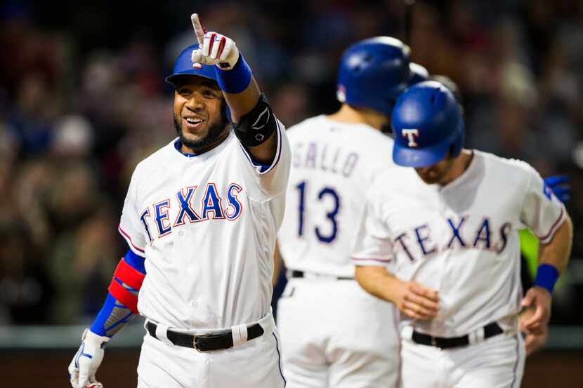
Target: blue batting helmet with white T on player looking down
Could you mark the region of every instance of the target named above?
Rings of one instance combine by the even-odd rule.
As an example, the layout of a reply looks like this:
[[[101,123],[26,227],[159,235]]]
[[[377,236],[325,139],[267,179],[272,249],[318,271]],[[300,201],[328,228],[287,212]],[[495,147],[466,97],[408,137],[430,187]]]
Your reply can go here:
[[[437,81],[411,86],[392,115],[393,160],[400,166],[428,167],[447,152],[456,157],[464,143],[464,120],[452,92]]]

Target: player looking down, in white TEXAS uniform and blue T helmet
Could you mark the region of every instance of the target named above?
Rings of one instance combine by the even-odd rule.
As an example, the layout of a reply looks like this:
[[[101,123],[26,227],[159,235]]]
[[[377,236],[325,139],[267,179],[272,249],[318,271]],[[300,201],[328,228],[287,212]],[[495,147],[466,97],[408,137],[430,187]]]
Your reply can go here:
[[[565,208],[527,163],[462,149],[459,107],[440,83],[403,93],[392,122],[393,160],[406,167],[370,188],[353,261],[360,285],[403,313],[403,387],[519,387],[517,314],[535,307],[524,323],[532,333],[549,321],[570,252]],[[523,227],[542,244],[524,299]]]

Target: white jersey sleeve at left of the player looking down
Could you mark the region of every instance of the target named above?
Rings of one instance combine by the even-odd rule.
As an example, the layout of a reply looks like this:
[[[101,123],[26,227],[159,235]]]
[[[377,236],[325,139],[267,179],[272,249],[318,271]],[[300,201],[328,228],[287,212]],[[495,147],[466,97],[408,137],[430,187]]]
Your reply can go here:
[[[372,193],[372,192],[371,192]],[[369,195],[360,216],[351,257],[354,265],[388,266],[393,257],[391,232],[382,219],[381,201]]]

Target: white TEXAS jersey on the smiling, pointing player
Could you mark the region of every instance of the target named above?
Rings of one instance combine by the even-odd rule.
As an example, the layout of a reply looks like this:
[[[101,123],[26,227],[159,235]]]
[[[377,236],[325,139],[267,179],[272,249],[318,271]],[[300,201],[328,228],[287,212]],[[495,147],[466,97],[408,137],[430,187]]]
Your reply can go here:
[[[290,152],[278,122],[277,154],[256,166],[231,131],[188,157],[178,139],[138,164],[119,232],[145,257],[138,310],[174,328],[230,328],[270,311],[275,235]]]

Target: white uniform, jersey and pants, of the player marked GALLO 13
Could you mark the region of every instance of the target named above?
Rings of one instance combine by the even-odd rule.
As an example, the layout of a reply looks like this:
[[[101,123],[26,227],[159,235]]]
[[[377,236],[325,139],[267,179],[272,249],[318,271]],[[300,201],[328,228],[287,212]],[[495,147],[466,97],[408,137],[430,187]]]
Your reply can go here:
[[[288,387],[394,387],[395,307],[354,280],[334,279],[354,276],[357,222],[372,180],[394,166],[393,140],[326,116],[293,126],[288,136],[292,170],[278,241],[285,265],[308,272],[289,279],[277,302]]]

